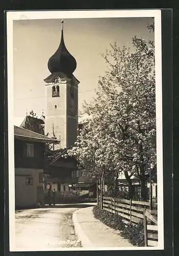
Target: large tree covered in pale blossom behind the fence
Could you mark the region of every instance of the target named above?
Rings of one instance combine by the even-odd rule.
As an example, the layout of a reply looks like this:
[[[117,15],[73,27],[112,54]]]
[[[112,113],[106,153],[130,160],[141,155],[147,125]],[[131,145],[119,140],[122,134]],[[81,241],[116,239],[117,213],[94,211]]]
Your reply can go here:
[[[153,25],[148,29],[153,31]],[[134,176],[145,201],[148,177],[154,180],[156,175],[154,43],[135,36],[132,45],[135,50],[130,52],[114,43],[102,55],[109,69],[99,80],[96,98],[83,105],[89,118],[71,153],[84,174],[98,179],[101,191],[109,177],[115,190],[122,172],[129,197],[135,193]]]

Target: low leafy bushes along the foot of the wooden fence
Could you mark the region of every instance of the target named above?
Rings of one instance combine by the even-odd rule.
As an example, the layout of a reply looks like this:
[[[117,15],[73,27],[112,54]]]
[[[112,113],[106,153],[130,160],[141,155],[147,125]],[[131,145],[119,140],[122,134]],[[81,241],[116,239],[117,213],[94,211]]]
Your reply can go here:
[[[132,245],[144,246],[144,227],[143,222],[138,224],[123,222],[123,219],[118,214],[114,215],[104,209],[100,209],[99,205],[93,208],[94,217],[107,226],[121,231],[121,236],[128,239]]]

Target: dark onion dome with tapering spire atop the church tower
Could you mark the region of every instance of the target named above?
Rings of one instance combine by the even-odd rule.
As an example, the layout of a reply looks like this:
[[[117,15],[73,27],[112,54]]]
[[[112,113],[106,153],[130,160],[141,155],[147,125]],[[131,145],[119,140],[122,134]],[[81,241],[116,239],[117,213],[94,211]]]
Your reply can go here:
[[[48,69],[51,73],[63,72],[66,75],[72,75],[77,63],[75,58],[66,49],[63,39],[63,20],[61,22],[61,41],[57,51],[48,61]]]

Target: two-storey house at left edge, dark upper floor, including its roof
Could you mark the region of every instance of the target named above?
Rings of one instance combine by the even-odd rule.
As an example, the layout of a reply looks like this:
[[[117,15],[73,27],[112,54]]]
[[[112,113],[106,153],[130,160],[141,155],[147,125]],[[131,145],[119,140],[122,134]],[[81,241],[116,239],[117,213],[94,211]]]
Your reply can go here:
[[[59,143],[41,134],[14,126],[15,208],[44,202],[43,170],[46,143]]]

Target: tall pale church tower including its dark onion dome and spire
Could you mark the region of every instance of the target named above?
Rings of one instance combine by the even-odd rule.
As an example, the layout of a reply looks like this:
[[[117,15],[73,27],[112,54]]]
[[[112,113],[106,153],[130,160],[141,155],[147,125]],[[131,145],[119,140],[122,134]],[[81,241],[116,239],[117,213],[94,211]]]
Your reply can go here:
[[[73,75],[75,58],[66,49],[61,22],[61,41],[48,61],[51,75],[46,82],[45,134],[60,140],[60,148],[74,145],[78,129],[78,84]],[[58,149],[57,147],[55,149]]]

